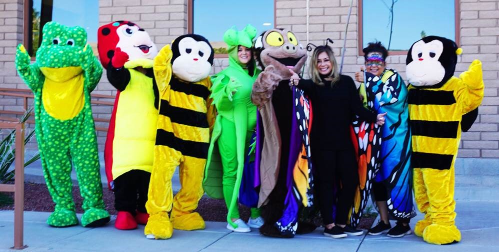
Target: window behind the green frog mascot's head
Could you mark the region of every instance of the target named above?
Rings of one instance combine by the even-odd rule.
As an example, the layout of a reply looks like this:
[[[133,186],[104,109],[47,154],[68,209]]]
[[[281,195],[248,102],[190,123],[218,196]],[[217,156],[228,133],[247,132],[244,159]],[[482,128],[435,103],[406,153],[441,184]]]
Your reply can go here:
[[[41,43],[41,30],[48,21],[57,21],[67,26],[81,26],[88,33],[87,42],[93,51],[97,48],[98,0],[25,0],[29,4],[30,19],[27,21],[27,48],[34,56]]]

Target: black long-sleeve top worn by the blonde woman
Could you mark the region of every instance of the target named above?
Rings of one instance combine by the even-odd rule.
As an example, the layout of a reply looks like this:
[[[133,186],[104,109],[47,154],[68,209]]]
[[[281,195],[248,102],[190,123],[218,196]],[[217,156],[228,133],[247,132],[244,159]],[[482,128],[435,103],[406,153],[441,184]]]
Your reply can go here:
[[[376,113],[362,106],[353,80],[340,75],[331,87],[330,81],[317,85],[312,80],[300,79],[298,88],[303,90],[312,103],[312,129],[310,146],[321,150],[352,148],[350,125],[355,115],[367,122],[376,121]]]

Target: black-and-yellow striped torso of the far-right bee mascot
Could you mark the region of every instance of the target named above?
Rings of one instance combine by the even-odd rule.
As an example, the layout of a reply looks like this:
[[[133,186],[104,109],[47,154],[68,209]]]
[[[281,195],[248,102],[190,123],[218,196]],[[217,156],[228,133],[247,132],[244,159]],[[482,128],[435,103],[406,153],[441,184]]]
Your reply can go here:
[[[409,87],[408,103],[414,168],[448,170],[459,147],[462,108],[456,95],[459,79],[440,88]]]

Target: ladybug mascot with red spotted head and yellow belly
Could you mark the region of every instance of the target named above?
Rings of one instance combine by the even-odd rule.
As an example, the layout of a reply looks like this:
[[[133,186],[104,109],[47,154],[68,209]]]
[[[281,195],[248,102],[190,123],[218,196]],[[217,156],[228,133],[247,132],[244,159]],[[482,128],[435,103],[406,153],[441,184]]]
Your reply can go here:
[[[146,224],[147,190],[156,138],[158,91],[152,72],[157,48],[149,34],[129,21],[97,31],[100,63],[117,89],[104,148],[105,173],[118,214],[114,227]]]

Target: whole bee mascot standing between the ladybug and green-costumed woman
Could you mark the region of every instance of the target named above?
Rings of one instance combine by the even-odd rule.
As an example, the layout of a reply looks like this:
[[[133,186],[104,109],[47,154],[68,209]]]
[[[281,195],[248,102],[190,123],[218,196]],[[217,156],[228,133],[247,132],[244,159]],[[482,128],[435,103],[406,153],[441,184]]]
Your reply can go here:
[[[203,219],[193,211],[203,195],[201,183],[215,118],[209,98],[212,64],[211,45],[196,34],[177,37],[171,49],[164,46],[154,58],[160,101],[145,204],[148,239],[168,239],[173,229],[204,229]],[[171,177],[177,166],[181,189],[173,198]]]

